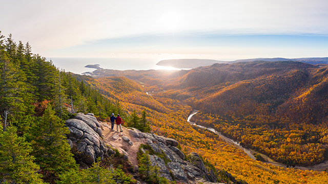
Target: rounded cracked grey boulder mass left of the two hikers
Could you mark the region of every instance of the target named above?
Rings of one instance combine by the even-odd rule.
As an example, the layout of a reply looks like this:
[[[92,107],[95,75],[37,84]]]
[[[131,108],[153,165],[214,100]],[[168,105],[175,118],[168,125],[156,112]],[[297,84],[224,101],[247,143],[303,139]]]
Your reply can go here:
[[[74,119],[65,121],[70,130],[67,135],[72,150],[84,155],[84,162],[92,164],[114,151],[109,148],[101,137],[101,129],[97,119],[92,113],[77,113]]]

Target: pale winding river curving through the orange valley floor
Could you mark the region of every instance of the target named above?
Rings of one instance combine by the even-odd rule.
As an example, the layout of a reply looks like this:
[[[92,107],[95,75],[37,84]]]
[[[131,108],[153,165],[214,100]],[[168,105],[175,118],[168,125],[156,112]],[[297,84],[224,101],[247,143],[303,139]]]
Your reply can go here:
[[[204,127],[204,126],[201,126],[201,125],[197,125],[195,122],[191,122],[190,119],[198,112],[198,110],[193,110],[192,113],[189,115],[188,119],[187,119],[187,122],[191,125],[194,125],[194,126],[198,126],[202,129],[207,129],[215,134],[217,134],[222,140],[224,140],[224,142],[226,143],[229,143],[231,145],[233,145],[234,147],[240,149],[240,150],[243,150],[250,158],[256,160],[256,158],[254,157],[254,153],[259,153],[255,150],[252,150],[252,149],[248,149],[248,148],[244,148],[242,147],[238,142],[230,139],[229,137],[226,137],[224,135],[221,134],[221,132],[218,132],[216,131],[214,128],[209,128],[209,127]],[[261,154],[261,156],[267,160],[266,162],[264,163],[267,163],[267,164],[272,164],[274,166],[279,166],[279,167],[284,167],[286,168],[287,166],[284,165],[284,164],[281,164],[281,163],[277,163],[275,162],[274,160],[272,160],[269,156],[267,155],[264,155],[262,153],[259,153]],[[295,166],[293,167],[295,169],[301,169],[301,170],[314,170],[314,171],[323,171],[325,169],[328,168],[328,160],[326,160],[325,162],[323,163],[320,163],[320,164],[317,164],[317,165],[313,165],[313,166]]]

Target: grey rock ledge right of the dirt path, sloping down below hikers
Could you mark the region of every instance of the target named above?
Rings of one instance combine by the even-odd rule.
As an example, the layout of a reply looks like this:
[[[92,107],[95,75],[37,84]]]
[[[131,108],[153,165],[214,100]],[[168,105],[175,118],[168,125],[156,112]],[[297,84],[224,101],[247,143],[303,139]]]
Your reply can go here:
[[[191,153],[188,155],[188,159],[190,159],[188,161],[185,154],[177,148],[176,140],[153,133],[142,133],[137,129],[129,130],[129,133],[140,139],[141,142],[144,140],[144,143],[155,152],[155,154],[149,153],[149,158],[151,165],[158,167],[159,176],[180,183],[217,183],[217,176],[206,168],[199,155]],[[145,152],[143,149],[142,151]]]

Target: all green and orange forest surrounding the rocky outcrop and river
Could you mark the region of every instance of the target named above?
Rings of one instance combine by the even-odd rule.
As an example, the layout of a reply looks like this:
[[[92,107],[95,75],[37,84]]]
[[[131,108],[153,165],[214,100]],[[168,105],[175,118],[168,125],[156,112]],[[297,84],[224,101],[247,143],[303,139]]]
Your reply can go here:
[[[119,113],[124,126],[142,119],[147,126],[140,128],[177,140],[186,155],[197,152],[208,165],[248,183],[328,183],[327,166],[309,169],[328,160],[328,65],[253,61],[181,71],[99,68],[85,76],[59,71],[32,54],[29,43],[0,35],[0,69],[0,174],[5,183],[17,178],[22,179],[17,183],[65,183],[66,170],[79,178],[91,176],[92,169],[77,169],[63,135],[68,131],[64,120],[76,112],[92,112],[103,122]],[[195,109],[192,122],[256,151],[257,160],[187,122]],[[51,145],[60,149],[39,139],[44,132],[58,140]],[[19,155],[10,167],[14,154],[8,150]],[[39,150],[46,153],[39,155]],[[266,163],[261,155],[284,167]],[[126,183],[134,182],[120,168],[115,172]]]

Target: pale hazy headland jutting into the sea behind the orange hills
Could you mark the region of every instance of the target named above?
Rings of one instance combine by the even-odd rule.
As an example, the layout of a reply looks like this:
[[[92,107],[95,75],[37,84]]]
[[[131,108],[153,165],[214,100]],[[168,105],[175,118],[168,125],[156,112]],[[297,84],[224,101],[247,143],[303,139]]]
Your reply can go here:
[[[161,60],[156,65],[171,66],[176,68],[196,68],[199,66],[209,66],[214,63],[226,63],[227,61],[218,61],[213,59],[167,59]]]

